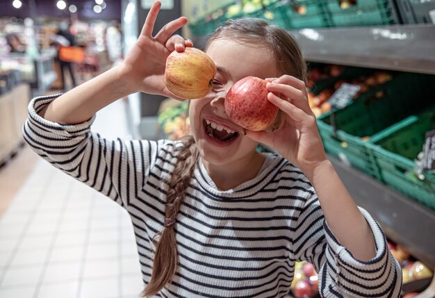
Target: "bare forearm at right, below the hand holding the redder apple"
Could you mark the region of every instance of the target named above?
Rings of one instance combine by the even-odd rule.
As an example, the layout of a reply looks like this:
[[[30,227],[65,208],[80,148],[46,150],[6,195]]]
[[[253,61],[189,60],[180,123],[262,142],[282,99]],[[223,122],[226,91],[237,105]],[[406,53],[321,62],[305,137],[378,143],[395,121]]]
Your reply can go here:
[[[375,257],[375,240],[366,219],[329,160],[316,167],[309,177],[318,194],[329,229],[341,245],[359,260]]]

